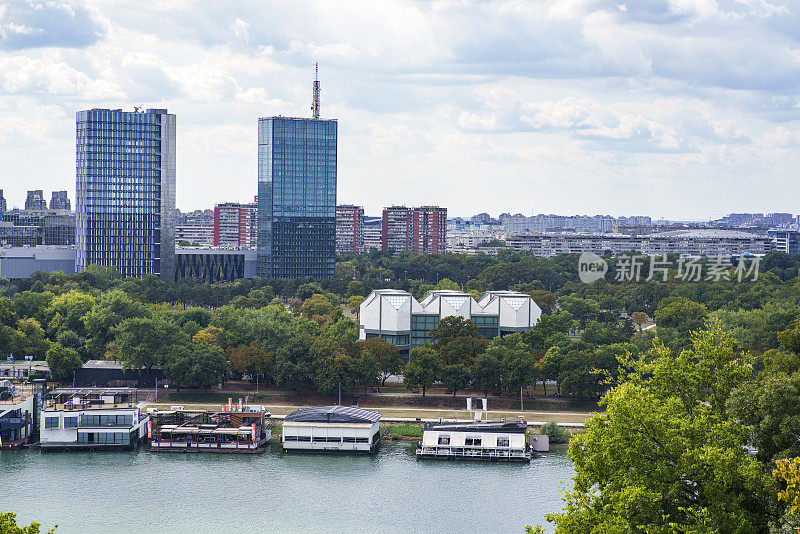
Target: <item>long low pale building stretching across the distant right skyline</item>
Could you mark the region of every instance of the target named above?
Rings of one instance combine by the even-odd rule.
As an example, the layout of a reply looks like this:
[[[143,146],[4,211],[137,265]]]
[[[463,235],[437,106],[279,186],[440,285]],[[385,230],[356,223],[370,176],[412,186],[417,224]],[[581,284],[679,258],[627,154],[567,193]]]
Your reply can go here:
[[[531,251],[536,256],[557,254],[627,254],[669,253],[694,256],[766,254],[772,243],[766,236],[730,230],[682,230],[648,235],[626,234],[530,234],[513,235],[506,246],[518,251]]]

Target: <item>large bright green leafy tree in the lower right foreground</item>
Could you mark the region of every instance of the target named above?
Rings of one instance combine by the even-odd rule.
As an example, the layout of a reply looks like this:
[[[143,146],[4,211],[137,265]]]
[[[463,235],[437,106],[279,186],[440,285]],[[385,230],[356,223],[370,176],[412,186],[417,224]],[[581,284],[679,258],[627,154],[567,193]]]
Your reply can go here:
[[[606,394],[605,413],[573,438],[575,486],[548,520],[558,534],[768,533],[776,482],[747,455],[749,429],[726,409],[750,356],[711,327],[678,357],[656,341],[652,357],[625,361],[627,380]]]

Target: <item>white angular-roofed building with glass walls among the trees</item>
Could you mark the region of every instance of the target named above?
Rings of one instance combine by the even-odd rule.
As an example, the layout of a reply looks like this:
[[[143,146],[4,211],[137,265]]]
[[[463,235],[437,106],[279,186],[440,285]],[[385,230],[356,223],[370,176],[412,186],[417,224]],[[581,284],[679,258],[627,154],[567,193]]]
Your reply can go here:
[[[542,310],[533,299],[517,291],[487,291],[479,301],[469,293],[429,291],[417,301],[399,289],[376,289],[361,304],[359,337],[380,337],[404,353],[430,341],[431,330],[443,317],[470,319],[487,339],[528,330]]]

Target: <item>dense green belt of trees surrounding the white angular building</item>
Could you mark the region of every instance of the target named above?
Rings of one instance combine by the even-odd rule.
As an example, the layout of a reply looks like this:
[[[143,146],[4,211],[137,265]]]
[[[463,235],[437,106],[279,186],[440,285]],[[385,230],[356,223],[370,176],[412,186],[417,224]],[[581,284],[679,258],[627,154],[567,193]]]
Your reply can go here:
[[[130,367],[163,365],[171,380],[208,387],[226,376],[258,377],[294,390],[333,392],[374,387],[401,370],[397,351],[380,340],[358,342],[357,313],[371,289],[403,288],[417,297],[433,288],[530,294],[539,324],[488,341],[474,326],[442,321],[430,346],[412,351],[404,370],[423,393],[441,382],[453,393],[473,387],[513,394],[555,381],[560,395],[596,398],[617,372],[617,358],[650,349],[658,324],[673,353],[690,332],[716,319],[758,365],[776,358],[779,333],[800,310],[800,259],[771,253],[756,281],[616,282],[577,280],[575,256],[552,259],[504,251],[497,257],[373,252],[344,256],[329,280],[238,280],[167,283],[154,276],[122,279],[113,269],[36,273],[0,282],[0,356],[46,357],[67,380],[88,359]],[[646,273],[645,273],[646,274]]]

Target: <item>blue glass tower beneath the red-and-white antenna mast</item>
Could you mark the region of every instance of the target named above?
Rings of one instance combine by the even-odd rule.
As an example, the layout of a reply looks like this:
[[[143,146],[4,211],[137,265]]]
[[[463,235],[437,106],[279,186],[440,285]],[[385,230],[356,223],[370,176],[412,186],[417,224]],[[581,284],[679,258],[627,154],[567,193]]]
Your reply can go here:
[[[259,276],[333,276],[336,145],[335,120],[259,119]]]

